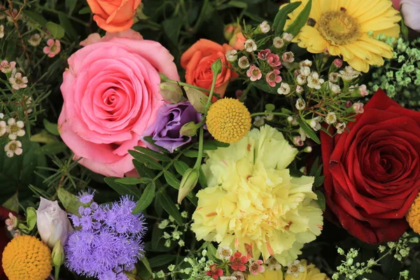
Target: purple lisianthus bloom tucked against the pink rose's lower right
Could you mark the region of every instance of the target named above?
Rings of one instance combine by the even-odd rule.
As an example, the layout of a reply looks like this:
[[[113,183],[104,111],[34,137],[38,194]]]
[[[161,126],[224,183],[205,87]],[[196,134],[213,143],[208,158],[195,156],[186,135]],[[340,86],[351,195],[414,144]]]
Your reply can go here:
[[[160,107],[155,123],[148,127],[143,137],[151,136],[155,144],[174,153],[179,148],[189,143],[192,137],[182,136],[179,133],[181,127],[186,123],[200,123],[201,115],[195,111],[190,102],[179,102],[177,104],[165,104]],[[146,144],[148,148],[153,148]]]

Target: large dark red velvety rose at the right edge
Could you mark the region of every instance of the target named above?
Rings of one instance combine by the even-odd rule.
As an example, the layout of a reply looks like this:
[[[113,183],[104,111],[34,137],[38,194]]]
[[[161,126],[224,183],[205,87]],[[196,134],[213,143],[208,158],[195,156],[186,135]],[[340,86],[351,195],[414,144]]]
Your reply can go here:
[[[420,112],[379,90],[348,127],[334,138],[321,134],[328,208],[362,241],[395,241],[419,193]]]

